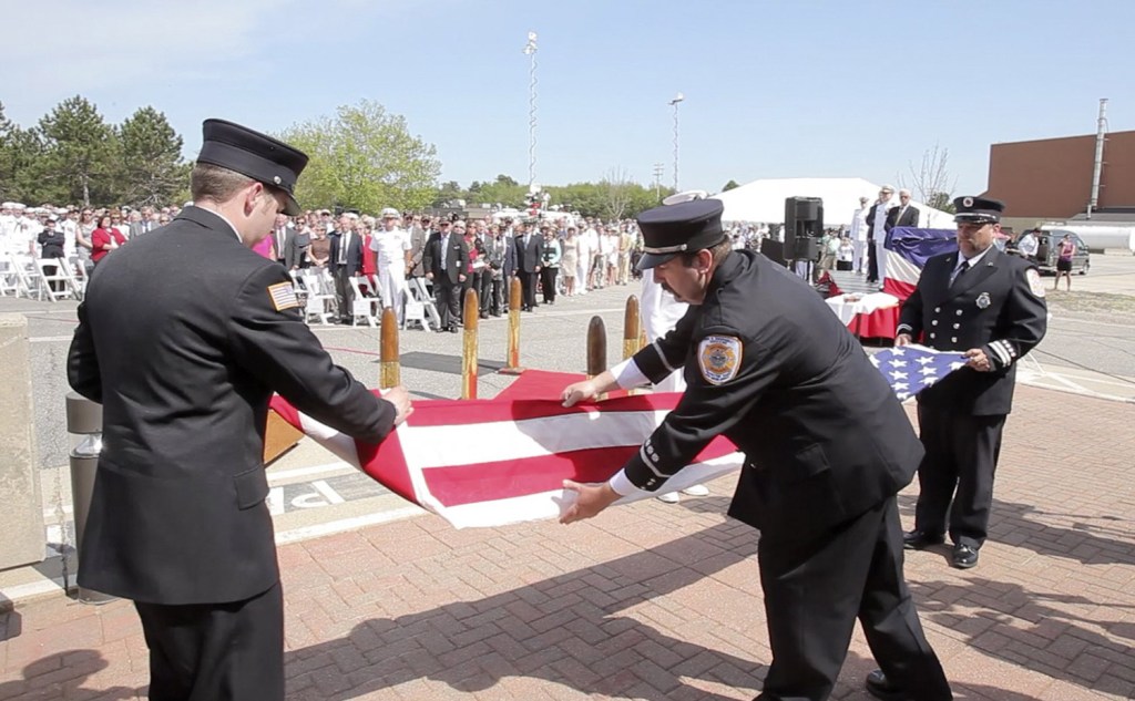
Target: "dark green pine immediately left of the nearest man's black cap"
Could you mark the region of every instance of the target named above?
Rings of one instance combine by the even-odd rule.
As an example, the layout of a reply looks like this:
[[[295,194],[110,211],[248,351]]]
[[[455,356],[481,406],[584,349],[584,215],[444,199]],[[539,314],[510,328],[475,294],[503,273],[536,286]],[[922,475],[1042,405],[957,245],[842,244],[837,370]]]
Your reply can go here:
[[[166,115],[144,107],[119,130],[124,194],[135,204],[165,204],[185,189],[191,166],[182,160],[182,136]]]

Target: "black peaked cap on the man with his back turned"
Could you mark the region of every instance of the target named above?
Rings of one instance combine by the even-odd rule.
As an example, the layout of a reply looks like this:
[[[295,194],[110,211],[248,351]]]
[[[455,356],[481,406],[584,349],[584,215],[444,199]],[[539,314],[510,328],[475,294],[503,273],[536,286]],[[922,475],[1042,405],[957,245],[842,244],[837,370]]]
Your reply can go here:
[[[295,181],[308,164],[308,155],[271,136],[224,119],[205,119],[197,162],[211,163],[278,187],[287,194],[286,214],[303,213],[295,201]]]

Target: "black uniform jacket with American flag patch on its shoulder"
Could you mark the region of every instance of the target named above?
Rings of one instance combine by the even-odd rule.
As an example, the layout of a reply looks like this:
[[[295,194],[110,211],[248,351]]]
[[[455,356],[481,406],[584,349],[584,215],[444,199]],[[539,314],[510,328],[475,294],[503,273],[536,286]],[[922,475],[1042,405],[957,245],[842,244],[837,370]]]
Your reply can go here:
[[[67,358],[72,387],[103,405],[83,586],[180,605],[276,583],[274,390],[356,438],[390,431],[393,405],[331,363],[289,292],[283,267],[193,206],[98,267]]]

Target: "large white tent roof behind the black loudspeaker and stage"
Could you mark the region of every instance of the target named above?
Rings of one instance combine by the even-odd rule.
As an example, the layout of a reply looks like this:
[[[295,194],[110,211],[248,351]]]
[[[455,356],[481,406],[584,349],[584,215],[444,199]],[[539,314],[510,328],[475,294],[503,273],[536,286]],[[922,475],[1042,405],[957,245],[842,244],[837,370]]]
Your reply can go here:
[[[859,209],[859,197],[867,197],[868,206],[878,197],[876,185],[863,178],[768,178],[754,180],[740,187],[714,195],[725,205],[724,221],[782,223],[784,200],[788,197],[819,197],[824,201],[824,226],[850,226],[851,214]],[[896,192],[891,202],[899,203]],[[925,229],[952,229],[953,214],[910,201],[918,208],[918,226]]]

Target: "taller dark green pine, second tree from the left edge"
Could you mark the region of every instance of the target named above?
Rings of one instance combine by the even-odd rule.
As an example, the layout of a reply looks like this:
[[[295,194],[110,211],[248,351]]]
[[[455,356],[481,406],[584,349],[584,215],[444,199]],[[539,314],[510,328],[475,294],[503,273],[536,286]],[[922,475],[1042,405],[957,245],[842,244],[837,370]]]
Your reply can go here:
[[[40,119],[40,134],[44,186],[56,185],[57,196],[83,206],[118,200],[118,136],[94,104],[79,95],[64,100]]]

